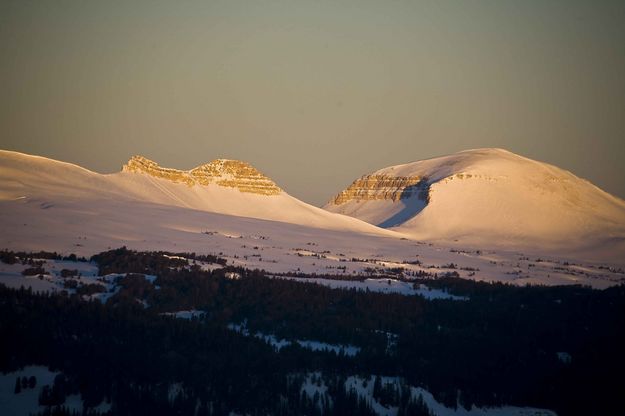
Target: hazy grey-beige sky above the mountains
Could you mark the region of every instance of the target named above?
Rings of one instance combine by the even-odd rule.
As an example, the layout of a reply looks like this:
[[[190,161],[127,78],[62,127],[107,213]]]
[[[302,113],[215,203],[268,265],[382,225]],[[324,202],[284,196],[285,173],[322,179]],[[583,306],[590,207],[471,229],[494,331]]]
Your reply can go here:
[[[625,197],[625,1],[0,0],[0,147],[251,162],[320,205],[503,147]]]

